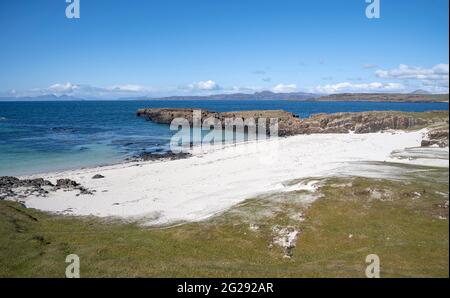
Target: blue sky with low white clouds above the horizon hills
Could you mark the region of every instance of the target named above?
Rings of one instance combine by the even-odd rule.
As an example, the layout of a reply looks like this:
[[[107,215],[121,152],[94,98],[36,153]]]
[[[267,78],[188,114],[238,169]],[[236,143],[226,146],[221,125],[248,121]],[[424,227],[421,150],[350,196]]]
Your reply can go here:
[[[448,0],[0,0],[0,94],[448,92]]]

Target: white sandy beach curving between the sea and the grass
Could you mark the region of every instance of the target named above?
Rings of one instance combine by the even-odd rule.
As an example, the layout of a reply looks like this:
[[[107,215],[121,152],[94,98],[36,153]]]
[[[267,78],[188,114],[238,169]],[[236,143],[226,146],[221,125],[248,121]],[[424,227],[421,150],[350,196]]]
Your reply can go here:
[[[419,147],[424,132],[298,135],[211,148],[188,159],[35,175],[52,182],[69,178],[96,192],[76,196],[77,191],[59,190],[47,198],[29,197],[25,204],[62,214],[139,220],[146,225],[197,221],[258,194],[293,190],[283,184],[293,179],[373,175],[359,162],[448,167],[448,148],[427,149],[443,159],[405,158],[411,153],[403,150]],[[105,178],[92,179],[95,174]]]

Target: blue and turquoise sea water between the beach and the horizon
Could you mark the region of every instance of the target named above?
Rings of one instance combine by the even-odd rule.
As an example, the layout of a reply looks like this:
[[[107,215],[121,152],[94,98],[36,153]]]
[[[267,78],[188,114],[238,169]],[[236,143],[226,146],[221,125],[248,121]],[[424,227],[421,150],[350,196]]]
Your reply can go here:
[[[32,174],[123,161],[140,152],[168,150],[166,125],[136,117],[146,107],[211,111],[284,109],[316,113],[448,110],[447,103],[288,101],[70,101],[0,102],[0,176]]]

